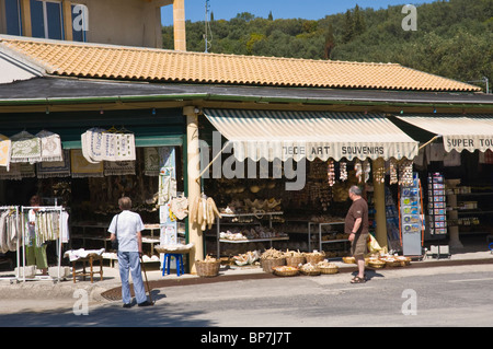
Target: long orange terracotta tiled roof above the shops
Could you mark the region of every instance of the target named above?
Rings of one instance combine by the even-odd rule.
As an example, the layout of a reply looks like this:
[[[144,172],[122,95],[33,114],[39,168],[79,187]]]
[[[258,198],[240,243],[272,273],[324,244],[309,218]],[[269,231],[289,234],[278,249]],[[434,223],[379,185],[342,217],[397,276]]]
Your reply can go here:
[[[480,88],[397,63],[217,55],[0,36],[50,74],[159,82],[412,91]]]

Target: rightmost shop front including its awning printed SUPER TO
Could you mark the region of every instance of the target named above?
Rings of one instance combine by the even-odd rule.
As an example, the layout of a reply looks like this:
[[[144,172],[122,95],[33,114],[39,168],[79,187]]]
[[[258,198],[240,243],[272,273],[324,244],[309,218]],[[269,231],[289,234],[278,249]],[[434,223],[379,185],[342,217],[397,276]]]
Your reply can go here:
[[[424,143],[414,167],[426,188],[425,241],[447,244],[450,252],[488,251],[493,234],[493,116],[410,114],[391,119]]]

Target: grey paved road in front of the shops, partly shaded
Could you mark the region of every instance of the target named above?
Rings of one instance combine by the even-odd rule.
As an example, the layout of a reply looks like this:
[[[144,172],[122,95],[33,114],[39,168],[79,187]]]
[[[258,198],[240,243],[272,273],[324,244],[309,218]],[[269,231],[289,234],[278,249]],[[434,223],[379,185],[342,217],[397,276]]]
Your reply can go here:
[[[83,294],[1,300],[0,326],[492,326],[492,271],[493,265],[383,269],[365,284],[340,274],[171,287],[152,291],[154,306],[129,310],[85,304]]]

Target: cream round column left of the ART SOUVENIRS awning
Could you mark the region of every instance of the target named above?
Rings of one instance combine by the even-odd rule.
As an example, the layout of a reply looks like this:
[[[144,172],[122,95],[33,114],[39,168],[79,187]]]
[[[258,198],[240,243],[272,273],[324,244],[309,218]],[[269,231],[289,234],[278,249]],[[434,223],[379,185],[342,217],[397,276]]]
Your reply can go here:
[[[183,115],[186,116],[186,153],[187,153],[187,188],[188,202],[200,197],[200,182],[196,181],[200,171],[198,148],[198,116],[194,106],[185,106]],[[204,259],[203,232],[196,222],[188,220],[188,241],[194,244],[190,253],[191,274],[196,274],[195,260]]]

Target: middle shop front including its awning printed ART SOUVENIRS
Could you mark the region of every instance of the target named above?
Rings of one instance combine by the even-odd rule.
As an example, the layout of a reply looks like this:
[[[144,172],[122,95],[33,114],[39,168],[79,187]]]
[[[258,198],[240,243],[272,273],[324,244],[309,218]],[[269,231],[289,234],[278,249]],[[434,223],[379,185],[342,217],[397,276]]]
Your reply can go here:
[[[207,254],[231,257],[274,247],[346,256],[351,185],[365,188],[380,245],[402,252],[398,191],[414,188],[419,142],[387,117],[238,109],[204,115],[202,137],[214,147],[203,165],[203,189],[221,212],[206,230]]]

